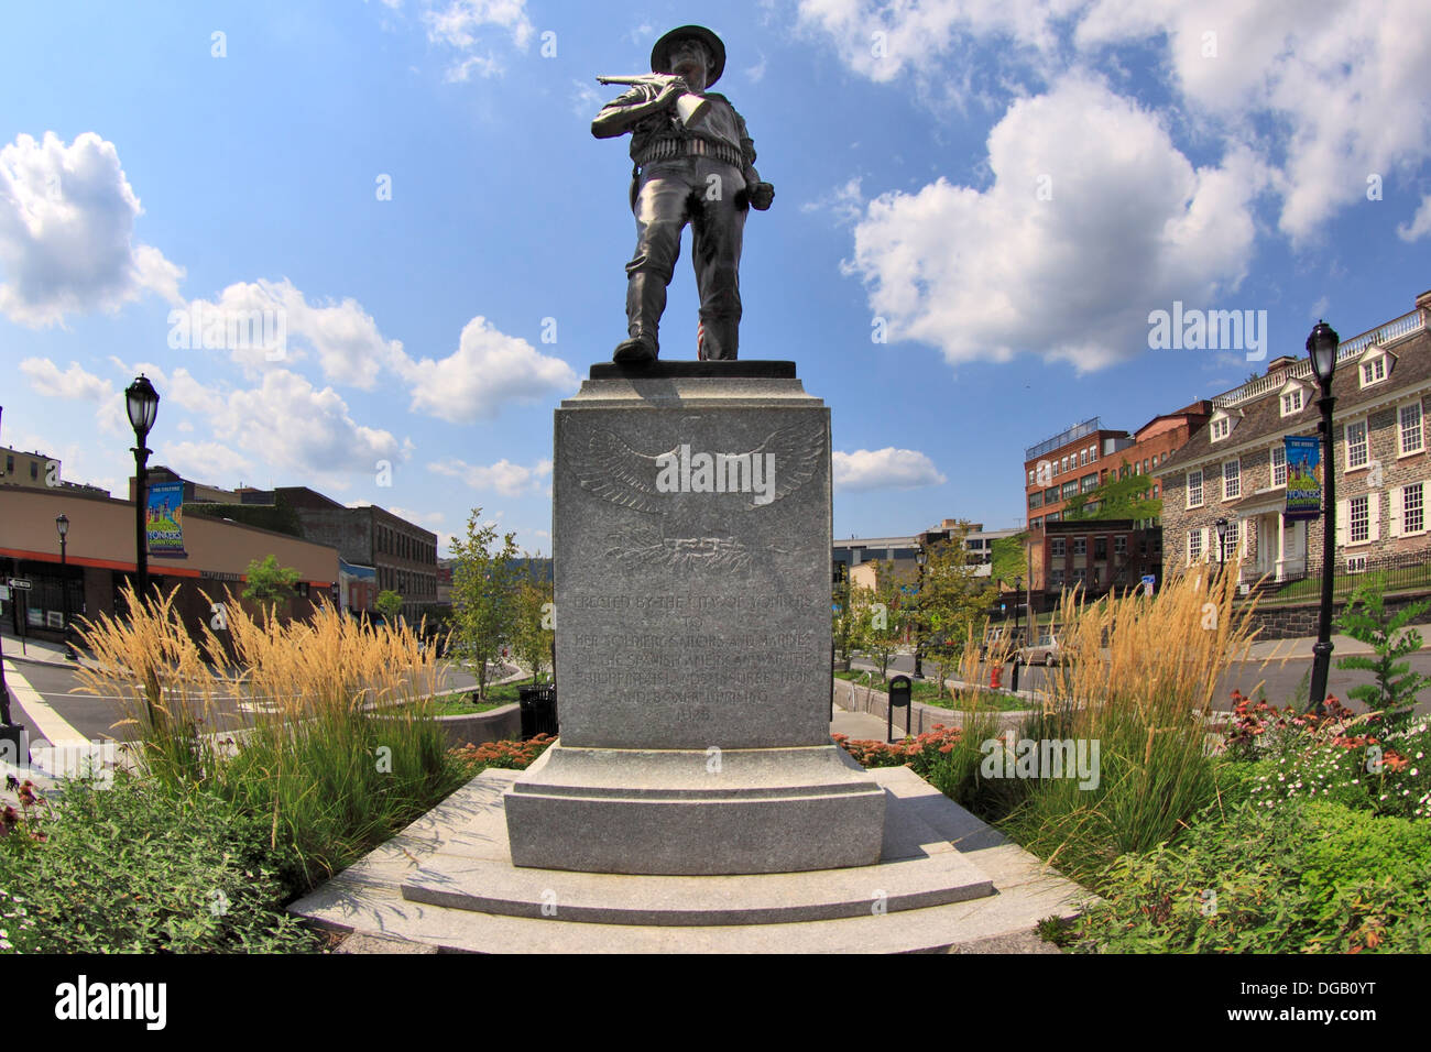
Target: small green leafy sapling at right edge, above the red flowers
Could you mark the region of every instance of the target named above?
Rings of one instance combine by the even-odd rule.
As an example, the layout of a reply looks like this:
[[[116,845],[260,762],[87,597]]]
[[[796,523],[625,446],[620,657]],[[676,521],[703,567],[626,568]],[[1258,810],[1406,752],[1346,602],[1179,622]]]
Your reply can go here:
[[[1412,673],[1411,664],[1400,660],[1421,650],[1421,633],[1407,625],[1431,610],[1431,600],[1410,603],[1400,613],[1388,614],[1382,601],[1385,587],[1385,574],[1369,575],[1338,620],[1341,631],[1365,643],[1377,651],[1377,657],[1352,654],[1341,658],[1337,667],[1368,671],[1377,680],[1352,687],[1347,691],[1351,697],[1384,713],[1384,719],[1392,713],[1405,717],[1415,706],[1417,694],[1431,686],[1431,676]]]

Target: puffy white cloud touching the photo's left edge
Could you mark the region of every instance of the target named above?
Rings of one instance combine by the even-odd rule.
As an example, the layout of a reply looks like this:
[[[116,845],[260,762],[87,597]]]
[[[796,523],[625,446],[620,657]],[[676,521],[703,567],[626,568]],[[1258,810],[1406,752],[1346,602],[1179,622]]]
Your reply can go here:
[[[145,292],[180,302],[183,268],[135,243],[142,212],[114,143],[93,132],[69,146],[53,132],[16,137],[0,149],[0,312],[44,326]]]

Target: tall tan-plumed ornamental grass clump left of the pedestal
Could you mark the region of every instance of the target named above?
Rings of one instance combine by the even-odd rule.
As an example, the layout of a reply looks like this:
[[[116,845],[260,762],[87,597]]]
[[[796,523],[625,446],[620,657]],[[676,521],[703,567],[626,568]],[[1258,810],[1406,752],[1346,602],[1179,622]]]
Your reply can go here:
[[[86,621],[82,691],[117,697],[140,771],[173,793],[213,792],[262,816],[311,886],[456,789],[429,697],[442,688],[419,631],[323,604],[308,620],[233,597],[190,634],[177,588],[126,618]],[[206,600],[210,597],[205,597]]]

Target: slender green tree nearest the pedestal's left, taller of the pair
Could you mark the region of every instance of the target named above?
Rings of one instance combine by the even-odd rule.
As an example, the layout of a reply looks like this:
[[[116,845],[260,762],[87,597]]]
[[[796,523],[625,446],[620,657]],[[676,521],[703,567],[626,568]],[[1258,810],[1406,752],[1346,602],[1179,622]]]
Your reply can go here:
[[[477,667],[477,691],[487,696],[487,666],[511,641],[517,623],[517,534],[498,545],[497,527],[481,525],[482,510],[467,521],[467,538],[452,538],[452,646]]]

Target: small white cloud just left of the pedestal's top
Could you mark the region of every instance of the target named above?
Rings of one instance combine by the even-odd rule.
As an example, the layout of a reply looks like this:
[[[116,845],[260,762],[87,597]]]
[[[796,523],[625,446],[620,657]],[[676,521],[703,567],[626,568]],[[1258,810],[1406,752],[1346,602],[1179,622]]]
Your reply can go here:
[[[452,424],[492,418],[507,402],[534,402],[577,385],[577,374],[564,361],[498,332],[482,316],[462,328],[451,355],[409,362],[404,372],[412,385],[411,409]]]

